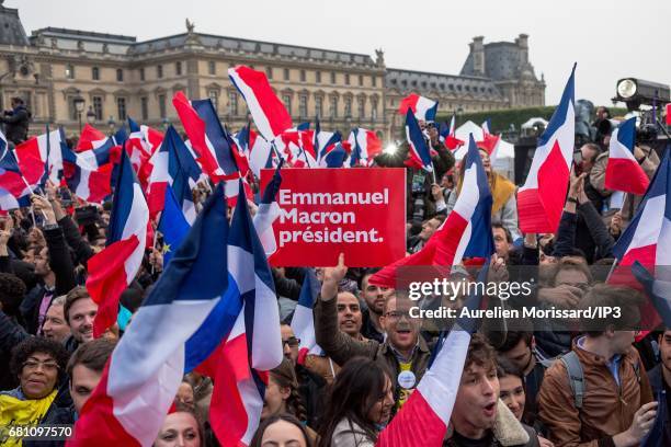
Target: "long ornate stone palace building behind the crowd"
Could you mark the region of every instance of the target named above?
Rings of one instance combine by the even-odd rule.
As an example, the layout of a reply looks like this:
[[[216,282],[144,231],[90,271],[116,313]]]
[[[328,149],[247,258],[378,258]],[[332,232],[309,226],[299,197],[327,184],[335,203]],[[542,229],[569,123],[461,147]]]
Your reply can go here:
[[[462,74],[448,76],[388,69],[382,50],[373,58],[202,34],[189,20],[185,33],[145,42],[58,27],[29,36],[18,10],[0,0],[0,106],[24,98],[33,113],[32,134],[43,133],[47,123],[75,134],[87,122],[112,131],[128,116],[158,128],[179,127],[171,100],[181,90],[192,99],[212,99],[220,119],[237,130],[248,112],[227,70],[240,64],[265,71],[295,123],[319,116],[329,129],[396,131],[398,101],[410,92],[439,99],[442,111],[494,110],[531,104],[525,92],[535,85],[543,103],[545,85],[536,81],[526,53],[510,50],[522,46],[522,36],[516,44],[484,46],[480,38],[481,48],[477,39]],[[500,69],[500,59],[511,55],[515,60]],[[485,62],[474,65],[471,59],[481,57]]]

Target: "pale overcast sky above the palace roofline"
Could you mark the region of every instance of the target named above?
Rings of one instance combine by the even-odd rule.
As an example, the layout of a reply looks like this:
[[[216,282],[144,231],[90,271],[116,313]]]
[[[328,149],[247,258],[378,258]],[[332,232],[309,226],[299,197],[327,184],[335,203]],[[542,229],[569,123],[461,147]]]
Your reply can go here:
[[[109,3],[109,7],[104,4]],[[671,83],[671,1],[639,0],[5,0],[25,31],[46,26],[136,36],[185,32],[368,54],[390,68],[458,74],[474,36],[530,35],[530,61],[557,104],[573,62],[576,99],[612,105],[616,81]]]

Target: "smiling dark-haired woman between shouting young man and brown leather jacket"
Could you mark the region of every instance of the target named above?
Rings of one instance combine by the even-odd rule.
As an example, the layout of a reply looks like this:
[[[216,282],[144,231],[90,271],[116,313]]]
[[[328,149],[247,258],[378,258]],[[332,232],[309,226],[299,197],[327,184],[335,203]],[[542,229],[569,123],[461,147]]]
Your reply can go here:
[[[499,371],[499,399],[512,411],[518,421],[524,422],[534,427],[538,433],[541,447],[553,447],[554,444],[541,437],[539,424],[536,424],[536,415],[525,412],[526,389],[524,387],[524,375],[522,370],[514,366],[508,358],[499,356],[497,359]]]

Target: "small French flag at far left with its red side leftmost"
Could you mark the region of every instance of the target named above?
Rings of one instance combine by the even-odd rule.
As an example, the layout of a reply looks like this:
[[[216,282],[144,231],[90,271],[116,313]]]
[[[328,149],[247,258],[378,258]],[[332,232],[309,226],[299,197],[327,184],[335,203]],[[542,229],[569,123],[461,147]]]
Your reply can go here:
[[[48,129],[47,129],[48,130]],[[16,145],[14,152],[21,172],[31,185],[50,180],[58,184],[62,174],[62,148],[67,148],[62,128],[47,131]]]

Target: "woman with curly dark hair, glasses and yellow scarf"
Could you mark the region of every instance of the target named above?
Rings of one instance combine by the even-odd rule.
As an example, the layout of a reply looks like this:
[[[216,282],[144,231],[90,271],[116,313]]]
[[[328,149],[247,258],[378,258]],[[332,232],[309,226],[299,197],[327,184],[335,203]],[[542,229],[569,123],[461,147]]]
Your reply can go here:
[[[67,352],[58,342],[33,336],[16,345],[10,369],[20,385],[0,392],[0,445],[22,445],[20,437],[10,436],[12,427],[53,420],[59,409],[69,406],[67,388],[59,392],[59,383],[66,379],[66,362]]]

